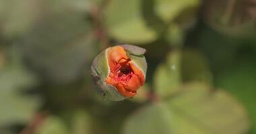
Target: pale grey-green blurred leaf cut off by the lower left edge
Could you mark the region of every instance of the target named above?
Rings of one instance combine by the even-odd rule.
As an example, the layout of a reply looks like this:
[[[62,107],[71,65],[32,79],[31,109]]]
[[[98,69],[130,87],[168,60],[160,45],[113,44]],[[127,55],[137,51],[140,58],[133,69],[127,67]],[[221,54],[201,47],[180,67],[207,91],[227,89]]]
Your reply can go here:
[[[24,90],[37,84],[36,77],[20,63],[18,52],[11,53],[11,63],[0,70],[0,125],[26,123],[40,106],[40,99]]]

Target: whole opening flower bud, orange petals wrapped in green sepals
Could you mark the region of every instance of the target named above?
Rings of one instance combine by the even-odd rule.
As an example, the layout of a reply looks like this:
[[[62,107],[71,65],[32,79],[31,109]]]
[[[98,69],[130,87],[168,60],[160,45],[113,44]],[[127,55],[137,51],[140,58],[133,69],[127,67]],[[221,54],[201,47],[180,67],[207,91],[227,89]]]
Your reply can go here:
[[[98,92],[109,100],[124,100],[137,94],[146,80],[146,50],[121,45],[107,48],[92,63],[92,78]]]

